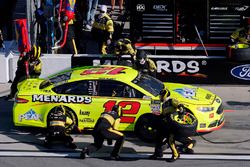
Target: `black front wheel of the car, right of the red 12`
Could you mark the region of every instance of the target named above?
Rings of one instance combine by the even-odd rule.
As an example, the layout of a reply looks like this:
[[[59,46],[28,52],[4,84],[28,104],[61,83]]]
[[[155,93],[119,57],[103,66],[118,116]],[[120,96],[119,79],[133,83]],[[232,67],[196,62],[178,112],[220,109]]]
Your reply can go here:
[[[156,138],[156,118],[153,114],[142,115],[136,122],[136,136],[144,142],[152,143]]]

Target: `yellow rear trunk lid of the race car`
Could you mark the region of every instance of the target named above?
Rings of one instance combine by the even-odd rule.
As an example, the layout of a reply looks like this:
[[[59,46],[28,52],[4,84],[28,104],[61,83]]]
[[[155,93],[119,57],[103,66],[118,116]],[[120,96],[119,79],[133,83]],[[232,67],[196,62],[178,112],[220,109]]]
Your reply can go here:
[[[18,93],[32,93],[32,92],[37,92],[39,90],[40,84],[44,80],[42,79],[26,79],[20,83],[18,83]]]

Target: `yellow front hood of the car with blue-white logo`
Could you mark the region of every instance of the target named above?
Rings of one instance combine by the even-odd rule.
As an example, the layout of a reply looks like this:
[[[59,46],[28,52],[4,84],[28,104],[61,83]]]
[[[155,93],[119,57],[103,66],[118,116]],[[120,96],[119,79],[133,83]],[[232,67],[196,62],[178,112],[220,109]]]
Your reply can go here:
[[[206,89],[186,84],[164,83],[172,98],[195,105],[213,104],[216,95]]]

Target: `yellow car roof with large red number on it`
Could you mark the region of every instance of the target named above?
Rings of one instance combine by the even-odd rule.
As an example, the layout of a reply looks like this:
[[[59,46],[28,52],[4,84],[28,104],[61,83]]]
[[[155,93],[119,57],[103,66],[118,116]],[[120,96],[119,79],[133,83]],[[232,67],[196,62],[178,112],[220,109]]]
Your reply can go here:
[[[138,71],[128,66],[100,65],[83,66],[72,69],[71,80],[112,79],[122,82],[131,82],[138,75]]]

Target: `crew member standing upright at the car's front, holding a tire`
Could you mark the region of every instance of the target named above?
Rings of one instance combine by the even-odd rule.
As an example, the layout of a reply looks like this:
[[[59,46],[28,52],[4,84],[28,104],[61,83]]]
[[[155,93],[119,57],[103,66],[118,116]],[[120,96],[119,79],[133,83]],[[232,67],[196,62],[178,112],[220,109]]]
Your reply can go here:
[[[172,151],[171,159],[168,159],[168,162],[173,162],[180,157],[180,154],[176,148],[175,141],[177,140],[178,134],[174,133],[171,124],[169,124],[169,117],[172,112],[181,111],[182,104],[180,104],[176,99],[170,99],[168,92],[166,90],[161,91],[161,101],[162,104],[162,114],[157,118],[157,135],[156,135],[156,144],[155,152],[150,156],[151,159],[156,159],[157,157],[162,157],[163,150],[162,146],[164,144],[164,139],[166,138],[167,143]]]

